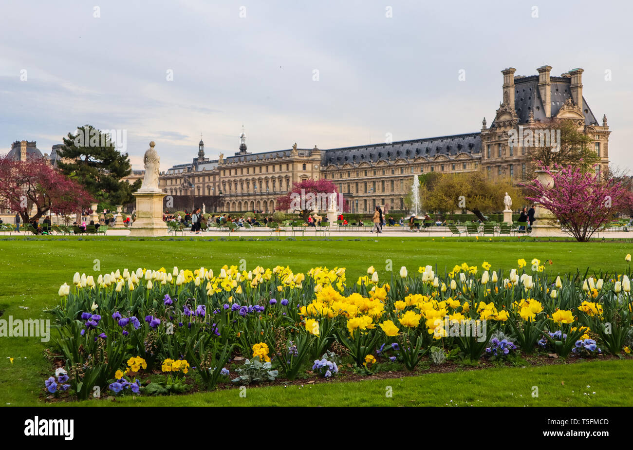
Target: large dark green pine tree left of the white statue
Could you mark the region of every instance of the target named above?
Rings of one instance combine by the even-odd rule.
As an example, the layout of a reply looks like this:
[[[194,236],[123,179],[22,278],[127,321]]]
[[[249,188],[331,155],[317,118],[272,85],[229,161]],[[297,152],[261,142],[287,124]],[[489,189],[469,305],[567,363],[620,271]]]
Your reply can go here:
[[[110,135],[92,125],[77,127],[75,134],[68,133],[60,157],[61,172],[83,185],[101,204],[100,208],[131,203],[132,192],[141,187],[141,180],[132,185],[122,181],[132,172],[127,153],[120,153]]]

